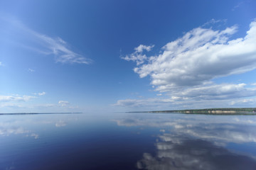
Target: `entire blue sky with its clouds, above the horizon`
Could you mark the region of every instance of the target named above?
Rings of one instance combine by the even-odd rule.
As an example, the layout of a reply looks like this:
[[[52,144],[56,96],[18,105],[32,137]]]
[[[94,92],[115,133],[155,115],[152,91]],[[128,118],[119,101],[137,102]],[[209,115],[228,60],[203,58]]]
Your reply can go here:
[[[0,112],[256,106],[255,1],[0,1]]]

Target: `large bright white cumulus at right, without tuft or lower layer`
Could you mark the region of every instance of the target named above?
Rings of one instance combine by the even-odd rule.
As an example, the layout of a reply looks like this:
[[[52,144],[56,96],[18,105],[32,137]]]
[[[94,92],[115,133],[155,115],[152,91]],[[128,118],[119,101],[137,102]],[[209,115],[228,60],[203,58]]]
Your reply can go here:
[[[245,38],[228,41],[237,27],[225,30],[195,28],[167,43],[161,55],[134,68],[140,77],[150,76],[155,86],[194,86],[216,77],[256,68],[256,21]]]

